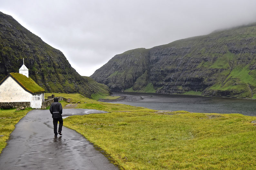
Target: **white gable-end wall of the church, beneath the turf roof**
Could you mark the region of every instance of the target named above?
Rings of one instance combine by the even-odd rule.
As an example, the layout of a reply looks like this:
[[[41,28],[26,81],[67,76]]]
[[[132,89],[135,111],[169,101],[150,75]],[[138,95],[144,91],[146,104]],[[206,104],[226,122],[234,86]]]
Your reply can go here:
[[[13,78],[0,85],[0,102],[30,102],[32,94],[25,91]]]

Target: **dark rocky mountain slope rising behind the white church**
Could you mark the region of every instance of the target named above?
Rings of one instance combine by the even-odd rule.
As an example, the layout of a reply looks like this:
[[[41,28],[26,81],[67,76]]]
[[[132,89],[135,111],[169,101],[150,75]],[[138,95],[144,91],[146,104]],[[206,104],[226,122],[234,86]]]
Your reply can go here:
[[[13,17],[0,12],[0,80],[18,72],[23,64],[31,77],[47,92],[108,95],[109,88],[80,76],[63,53],[31,33]]]

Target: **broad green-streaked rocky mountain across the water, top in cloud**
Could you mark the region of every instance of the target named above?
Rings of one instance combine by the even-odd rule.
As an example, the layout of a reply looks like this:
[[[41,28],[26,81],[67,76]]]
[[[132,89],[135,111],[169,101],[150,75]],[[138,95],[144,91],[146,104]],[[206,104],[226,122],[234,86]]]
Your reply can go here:
[[[256,23],[115,55],[90,77],[113,91],[256,98]]]

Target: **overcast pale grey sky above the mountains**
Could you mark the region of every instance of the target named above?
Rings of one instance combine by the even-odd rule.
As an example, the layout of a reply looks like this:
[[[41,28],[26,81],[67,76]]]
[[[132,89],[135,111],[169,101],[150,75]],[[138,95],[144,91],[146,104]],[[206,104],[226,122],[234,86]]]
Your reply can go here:
[[[256,0],[0,0],[82,76],[114,55],[256,22]]]

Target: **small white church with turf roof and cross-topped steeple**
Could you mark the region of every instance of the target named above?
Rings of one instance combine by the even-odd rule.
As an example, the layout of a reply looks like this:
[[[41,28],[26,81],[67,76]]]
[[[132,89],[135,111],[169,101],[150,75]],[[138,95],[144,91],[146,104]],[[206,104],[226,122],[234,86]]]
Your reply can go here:
[[[41,108],[45,90],[28,77],[28,68],[24,64],[19,73],[10,73],[0,82],[1,102],[30,102],[30,107]]]

